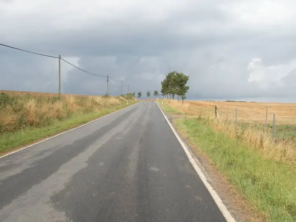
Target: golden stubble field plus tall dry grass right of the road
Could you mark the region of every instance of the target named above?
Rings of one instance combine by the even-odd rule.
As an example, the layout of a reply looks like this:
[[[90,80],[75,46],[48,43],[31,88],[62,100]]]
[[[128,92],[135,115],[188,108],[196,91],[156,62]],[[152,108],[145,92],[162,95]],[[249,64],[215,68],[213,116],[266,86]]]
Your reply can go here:
[[[268,114],[269,123],[272,123],[272,113],[275,112],[277,125],[296,124],[296,104],[206,101],[184,101],[184,104],[182,104],[182,102],[168,100],[165,103],[188,116],[208,117],[208,123],[216,131],[222,131],[231,138],[239,139],[246,145],[257,148],[266,158],[296,166],[295,137],[274,140],[272,134],[256,125],[265,124],[266,107],[268,107],[270,113]],[[218,119],[215,119],[215,105],[225,117],[228,117],[230,122],[235,119],[235,112],[233,115],[232,111],[235,111],[237,107],[238,120],[243,123],[253,122],[254,124],[239,124],[235,129],[235,124],[223,121],[225,118],[221,115],[219,122]]]

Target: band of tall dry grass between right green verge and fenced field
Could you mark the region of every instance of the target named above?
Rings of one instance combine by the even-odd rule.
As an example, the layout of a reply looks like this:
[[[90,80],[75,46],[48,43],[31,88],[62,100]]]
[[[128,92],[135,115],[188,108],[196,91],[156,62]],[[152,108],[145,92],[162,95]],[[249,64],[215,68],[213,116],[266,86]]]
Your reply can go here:
[[[165,106],[164,106],[165,105]],[[233,121],[227,122],[221,118],[214,118],[207,109],[200,108],[192,103],[178,103],[176,101],[165,101],[164,109],[175,109],[181,111],[181,115],[188,118],[205,117],[209,118],[208,124],[217,132],[222,132],[230,139],[237,139],[248,147],[255,147],[264,156],[280,163],[287,163],[296,168],[296,137],[295,127],[289,125],[276,126],[276,137],[272,136],[272,128],[265,129],[265,126],[255,122],[238,122],[237,127]],[[172,108],[167,108],[168,106]],[[189,109],[190,108],[190,109]]]

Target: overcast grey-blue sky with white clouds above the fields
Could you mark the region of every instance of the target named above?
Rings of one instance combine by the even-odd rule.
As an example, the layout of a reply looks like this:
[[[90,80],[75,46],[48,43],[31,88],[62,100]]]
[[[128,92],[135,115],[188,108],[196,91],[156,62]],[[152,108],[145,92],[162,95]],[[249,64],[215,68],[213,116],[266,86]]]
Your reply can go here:
[[[295,0],[0,0],[0,43],[188,99],[296,102]],[[106,78],[62,62],[62,93],[105,94]],[[57,92],[58,61],[0,46],[0,89]],[[120,83],[110,81],[110,93]]]

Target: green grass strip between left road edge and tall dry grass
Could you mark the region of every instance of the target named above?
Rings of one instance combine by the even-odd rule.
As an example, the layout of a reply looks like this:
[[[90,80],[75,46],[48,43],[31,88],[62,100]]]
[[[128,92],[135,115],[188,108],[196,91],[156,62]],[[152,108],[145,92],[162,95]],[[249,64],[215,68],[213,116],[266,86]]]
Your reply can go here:
[[[134,102],[130,103],[130,105]],[[56,120],[53,124],[50,124],[42,128],[27,127],[22,130],[18,130],[12,133],[0,134],[0,155],[4,154],[14,148],[18,148],[24,145],[34,143],[38,140],[44,139],[49,136],[61,133],[68,129],[87,123],[96,118],[107,115],[113,111],[120,110],[127,107],[126,104],[113,106],[111,108],[104,108],[99,112],[90,112],[86,114],[73,114],[71,118],[58,121]]]

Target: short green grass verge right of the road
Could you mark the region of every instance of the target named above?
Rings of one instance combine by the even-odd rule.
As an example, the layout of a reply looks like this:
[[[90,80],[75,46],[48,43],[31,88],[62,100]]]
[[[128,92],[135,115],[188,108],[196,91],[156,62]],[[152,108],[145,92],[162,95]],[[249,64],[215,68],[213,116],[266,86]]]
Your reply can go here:
[[[295,168],[264,159],[256,149],[215,132],[204,119],[183,118],[176,124],[266,221],[296,221]]]

